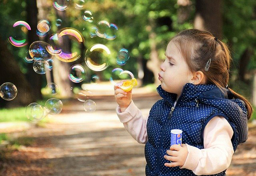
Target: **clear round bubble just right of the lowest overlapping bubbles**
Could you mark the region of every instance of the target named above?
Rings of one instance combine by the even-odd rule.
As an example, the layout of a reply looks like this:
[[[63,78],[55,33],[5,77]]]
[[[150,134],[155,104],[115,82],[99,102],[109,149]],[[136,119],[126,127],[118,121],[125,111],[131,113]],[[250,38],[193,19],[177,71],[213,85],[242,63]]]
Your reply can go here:
[[[45,102],[45,107],[49,114],[56,115],[61,112],[63,105],[60,99],[52,98]]]

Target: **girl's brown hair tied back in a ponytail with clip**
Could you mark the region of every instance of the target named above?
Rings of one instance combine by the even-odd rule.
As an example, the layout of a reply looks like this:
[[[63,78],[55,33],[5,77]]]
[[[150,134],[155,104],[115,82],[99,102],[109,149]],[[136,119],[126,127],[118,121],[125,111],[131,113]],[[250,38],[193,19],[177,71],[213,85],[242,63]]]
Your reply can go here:
[[[183,30],[171,41],[179,49],[192,73],[202,71],[206,76],[206,84],[215,84],[220,90],[224,90],[223,88],[228,84],[230,61],[232,61],[230,51],[225,43],[218,39],[215,40],[210,32],[197,29]],[[209,70],[205,71],[204,68],[210,58]],[[234,94],[234,98],[244,101],[249,120],[252,116],[250,102],[244,96],[228,89]]]

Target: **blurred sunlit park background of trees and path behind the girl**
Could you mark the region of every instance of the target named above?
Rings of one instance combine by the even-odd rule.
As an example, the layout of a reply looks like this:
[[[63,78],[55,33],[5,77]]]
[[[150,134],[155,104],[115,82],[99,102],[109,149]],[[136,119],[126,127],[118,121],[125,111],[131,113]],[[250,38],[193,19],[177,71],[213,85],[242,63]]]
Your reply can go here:
[[[66,9],[54,7],[54,2]],[[124,129],[115,113],[114,89],[110,77],[123,79],[112,70],[133,73],[138,85],[133,100],[144,117],[160,99],[158,72],[170,38],[185,29],[208,30],[230,47],[233,62],[230,85],[256,105],[256,1],[255,0],[0,0],[0,85],[17,87],[11,101],[0,98],[0,175],[1,176],[142,176],[146,160],[144,145],[138,144]],[[93,20],[85,20],[90,10]],[[91,18],[92,19],[92,18]],[[41,20],[50,22],[50,30],[37,33]],[[109,31],[114,40],[91,37],[92,28],[104,20],[118,26]],[[17,21],[24,26],[12,27]],[[84,41],[66,40],[64,47],[80,57],[63,62],[52,57],[52,69],[38,74],[29,63],[29,47],[35,41],[50,43],[50,37],[63,28],[76,29]],[[100,29],[102,30],[102,29]],[[27,45],[15,47],[8,38],[26,39]],[[109,66],[94,71],[85,63],[86,50],[94,44],[110,49]],[[116,55],[126,48],[130,58],[118,64]],[[33,60],[33,59],[32,59]],[[80,64],[86,77],[72,82],[69,69]],[[96,77],[96,79],[95,79]],[[48,83],[58,85],[58,93],[49,95]],[[95,102],[96,111],[86,112],[84,100]],[[45,105],[50,98],[63,103],[57,115],[29,121],[30,103]],[[95,110],[95,109],[94,109]],[[248,122],[249,138],[239,145],[227,170],[228,176],[256,176],[256,115]]]

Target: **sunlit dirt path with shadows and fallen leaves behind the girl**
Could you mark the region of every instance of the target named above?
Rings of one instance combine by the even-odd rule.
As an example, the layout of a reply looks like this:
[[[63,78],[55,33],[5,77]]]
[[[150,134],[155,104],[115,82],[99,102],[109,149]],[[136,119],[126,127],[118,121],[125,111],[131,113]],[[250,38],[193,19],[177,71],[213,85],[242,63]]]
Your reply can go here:
[[[134,98],[144,116],[160,99]],[[85,113],[74,101],[60,115],[49,116],[44,128],[15,132],[34,143],[6,154],[0,176],[144,176],[144,144],[138,144],[120,123],[114,99],[96,99],[97,111]],[[1,162],[1,161],[0,161]],[[228,176],[256,176],[256,129],[238,146]]]

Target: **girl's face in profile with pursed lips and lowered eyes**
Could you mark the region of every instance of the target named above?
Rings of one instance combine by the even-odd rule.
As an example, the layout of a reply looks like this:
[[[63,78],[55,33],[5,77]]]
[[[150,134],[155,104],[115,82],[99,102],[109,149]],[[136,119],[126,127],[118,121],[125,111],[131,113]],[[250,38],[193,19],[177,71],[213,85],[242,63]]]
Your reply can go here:
[[[192,82],[193,74],[172,41],[167,45],[165,55],[166,59],[160,65],[161,71],[158,79],[161,81],[162,89],[176,93],[178,98],[184,85]]]

